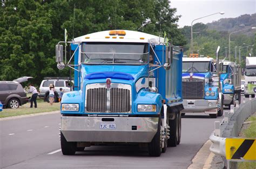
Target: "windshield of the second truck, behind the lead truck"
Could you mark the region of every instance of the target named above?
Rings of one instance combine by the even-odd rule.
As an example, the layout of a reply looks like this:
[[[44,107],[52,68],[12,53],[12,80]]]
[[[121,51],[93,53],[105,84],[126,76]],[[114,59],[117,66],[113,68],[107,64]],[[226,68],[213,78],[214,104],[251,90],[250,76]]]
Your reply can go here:
[[[182,72],[210,72],[210,62],[208,61],[197,61],[197,62],[183,62]]]

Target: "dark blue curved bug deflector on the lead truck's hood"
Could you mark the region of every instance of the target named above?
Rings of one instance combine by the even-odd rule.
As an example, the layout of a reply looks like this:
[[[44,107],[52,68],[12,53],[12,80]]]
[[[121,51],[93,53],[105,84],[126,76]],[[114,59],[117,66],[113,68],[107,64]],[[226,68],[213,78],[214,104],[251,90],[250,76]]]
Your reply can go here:
[[[124,79],[124,80],[134,80],[133,76],[128,73],[123,72],[93,72],[85,75],[85,79]]]

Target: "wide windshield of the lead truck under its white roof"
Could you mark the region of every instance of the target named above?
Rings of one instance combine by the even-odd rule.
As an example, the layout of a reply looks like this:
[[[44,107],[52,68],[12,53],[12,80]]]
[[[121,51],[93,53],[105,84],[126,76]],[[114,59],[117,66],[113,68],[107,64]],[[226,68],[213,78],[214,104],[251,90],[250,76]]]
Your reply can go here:
[[[84,64],[147,64],[148,45],[145,43],[84,43],[81,62]]]

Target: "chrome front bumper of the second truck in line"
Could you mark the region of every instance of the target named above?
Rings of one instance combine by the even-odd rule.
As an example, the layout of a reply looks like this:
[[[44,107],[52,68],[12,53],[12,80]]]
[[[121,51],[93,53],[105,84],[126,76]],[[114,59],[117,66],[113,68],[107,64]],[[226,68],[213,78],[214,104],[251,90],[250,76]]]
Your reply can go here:
[[[183,107],[184,110],[182,110],[182,112],[204,112],[205,114],[216,114],[218,110],[218,100],[184,99]]]

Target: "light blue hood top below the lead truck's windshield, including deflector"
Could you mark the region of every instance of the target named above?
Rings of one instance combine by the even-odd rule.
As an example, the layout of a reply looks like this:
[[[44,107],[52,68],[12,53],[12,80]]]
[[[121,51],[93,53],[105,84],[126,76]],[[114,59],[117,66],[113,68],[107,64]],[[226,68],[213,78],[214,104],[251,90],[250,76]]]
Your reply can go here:
[[[148,76],[148,65],[82,65],[85,79],[124,79],[138,80]]]

